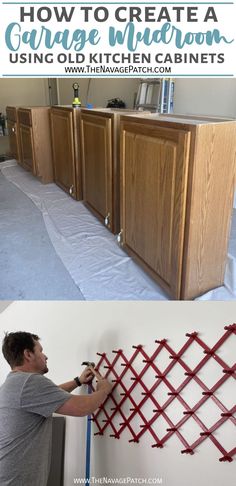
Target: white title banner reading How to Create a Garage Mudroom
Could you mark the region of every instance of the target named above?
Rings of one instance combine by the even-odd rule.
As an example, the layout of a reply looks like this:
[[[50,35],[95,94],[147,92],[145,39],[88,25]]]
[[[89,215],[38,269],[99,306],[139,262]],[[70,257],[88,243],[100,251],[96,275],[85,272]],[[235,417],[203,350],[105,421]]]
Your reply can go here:
[[[235,77],[235,2],[1,2],[1,77]]]

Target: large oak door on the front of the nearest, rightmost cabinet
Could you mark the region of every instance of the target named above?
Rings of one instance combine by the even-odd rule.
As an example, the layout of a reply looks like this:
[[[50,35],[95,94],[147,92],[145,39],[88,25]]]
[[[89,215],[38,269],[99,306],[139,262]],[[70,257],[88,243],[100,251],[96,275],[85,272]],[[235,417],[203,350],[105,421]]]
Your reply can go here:
[[[123,123],[124,248],[174,298],[181,289],[190,132]]]

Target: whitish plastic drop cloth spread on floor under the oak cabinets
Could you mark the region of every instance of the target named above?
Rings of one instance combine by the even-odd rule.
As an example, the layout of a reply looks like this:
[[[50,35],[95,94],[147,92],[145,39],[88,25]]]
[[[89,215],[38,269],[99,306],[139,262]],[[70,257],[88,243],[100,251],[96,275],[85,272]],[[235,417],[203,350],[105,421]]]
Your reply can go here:
[[[42,212],[55,251],[86,300],[169,300],[83,203],[54,183],[41,184],[15,160],[3,162],[1,172]],[[236,299],[236,214],[231,233],[225,286],[196,300]]]

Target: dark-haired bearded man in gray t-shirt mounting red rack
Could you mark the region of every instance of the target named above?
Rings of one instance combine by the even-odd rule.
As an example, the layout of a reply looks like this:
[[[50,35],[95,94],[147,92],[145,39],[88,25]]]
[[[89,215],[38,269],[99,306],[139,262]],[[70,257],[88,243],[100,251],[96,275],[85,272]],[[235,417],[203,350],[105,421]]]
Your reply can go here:
[[[44,376],[47,356],[36,334],[6,334],[2,352],[12,371],[0,387],[0,485],[46,486],[53,412],[89,415],[104,402],[112,385],[90,367],[79,377],[55,385]],[[96,391],[71,395],[94,376]]]

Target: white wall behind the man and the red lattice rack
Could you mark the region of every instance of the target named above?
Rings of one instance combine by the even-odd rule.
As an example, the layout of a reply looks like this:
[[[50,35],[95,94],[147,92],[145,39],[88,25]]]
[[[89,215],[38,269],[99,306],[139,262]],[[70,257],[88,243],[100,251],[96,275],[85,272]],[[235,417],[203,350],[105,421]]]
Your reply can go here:
[[[213,346],[223,334],[224,326],[235,321],[235,313],[235,302],[16,302],[0,315],[0,338],[4,331],[38,333],[49,356],[48,376],[60,383],[80,373],[83,360],[96,361],[97,351],[105,351],[112,358],[112,349],[122,348],[126,355],[131,356],[131,346],[141,343],[147,352],[151,352],[155,339],[164,337],[178,351],[186,340],[185,333],[192,331],[199,331],[202,340]],[[220,351],[222,359],[229,364],[235,360],[232,341],[228,341]],[[193,348],[191,356],[188,355],[189,364],[196,359],[198,362]],[[166,361],[166,358],[160,358],[159,366],[164,363],[163,360]],[[1,383],[8,372],[2,357],[0,370]],[[209,380],[214,381],[217,373],[217,369],[210,366]],[[207,380],[207,376],[204,379]],[[234,400],[233,379],[230,382],[217,393],[228,406]],[[186,401],[192,399],[193,393],[195,391],[190,396],[186,391]],[[203,415],[209,425],[215,418],[210,403]],[[175,408],[172,413],[176,413]],[[84,477],[85,429],[86,419],[67,418],[65,486],[71,486],[74,477]],[[175,436],[159,450],[151,448],[153,439],[148,434],[139,444],[129,444],[127,433],[122,434],[120,440],[110,438],[109,433],[93,438],[91,473],[94,477],[158,477],[162,478],[165,486],[235,484],[235,461],[220,463],[221,453],[209,439],[197,448],[193,456],[186,456],[180,453],[183,446]],[[188,434],[195,434],[194,425]],[[220,441],[226,441],[229,449],[232,447],[232,426],[229,427],[229,423],[222,426],[216,435]]]

